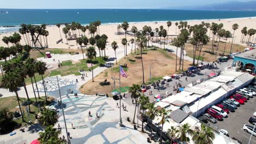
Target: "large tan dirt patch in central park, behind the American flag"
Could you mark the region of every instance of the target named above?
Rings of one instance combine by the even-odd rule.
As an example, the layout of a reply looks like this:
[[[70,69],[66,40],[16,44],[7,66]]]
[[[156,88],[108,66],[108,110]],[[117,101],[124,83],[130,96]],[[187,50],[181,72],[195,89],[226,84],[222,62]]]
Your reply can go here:
[[[152,77],[170,76],[175,73],[176,56],[173,53],[164,50],[145,50],[144,52],[147,53],[143,55],[144,79],[146,83],[149,82],[150,65],[152,66]],[[124,68],[127,78],[121,77],[121,87],[131,86],[133,83],[142,83],[141,59],[138,59],[138,56],[133,53],[127,56],[127,58],[121,59],[121,65],[127,64],[127,69]],[[189,64],[191,63],[184,61],[184,69],[190,67]],[[117,78],[115,85],[116,88],[119,88],[119,65],[114,65],[113,68],[104,70],[95,77],[95,82],[89,81],[85,83],[80,88],[80,91],[86,94],[95,94],[96,92],[109,94],[114,89],[112,77]],[[109,85],[102,86],[105,79],[109,81]]]

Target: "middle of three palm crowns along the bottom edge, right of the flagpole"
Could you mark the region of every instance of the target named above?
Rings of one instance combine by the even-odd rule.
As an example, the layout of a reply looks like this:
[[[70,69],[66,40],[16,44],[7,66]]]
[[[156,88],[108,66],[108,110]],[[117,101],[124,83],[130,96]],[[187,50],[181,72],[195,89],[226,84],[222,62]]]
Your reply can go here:
[[[182,142],[189,142],[190,140],[187,134],[193,134],[193,130],[190,129],[190,125],[188,123],[185,123],[183,125],[178,125],[177,127],[179,140]]]

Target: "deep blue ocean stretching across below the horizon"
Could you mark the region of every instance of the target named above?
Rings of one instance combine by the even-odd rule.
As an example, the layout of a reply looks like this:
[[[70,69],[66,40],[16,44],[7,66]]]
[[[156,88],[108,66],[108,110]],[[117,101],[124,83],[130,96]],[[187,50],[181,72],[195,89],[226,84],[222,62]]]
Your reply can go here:
[[[100,20],[102,24],[152,21],[233,19],[255,17],[256,11],[205,11],[167,9],[0,9],[0,32],[22,23],[54,25],[72,21],[86,25]]]

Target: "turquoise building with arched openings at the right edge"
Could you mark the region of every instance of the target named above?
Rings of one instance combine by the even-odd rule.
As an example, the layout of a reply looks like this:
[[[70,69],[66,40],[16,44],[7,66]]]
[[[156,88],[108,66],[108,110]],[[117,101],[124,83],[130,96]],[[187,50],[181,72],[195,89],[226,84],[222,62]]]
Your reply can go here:
[[[241,70],[249,69],[256,74],[256,49],[235,55],[232,66],[240,67]]]

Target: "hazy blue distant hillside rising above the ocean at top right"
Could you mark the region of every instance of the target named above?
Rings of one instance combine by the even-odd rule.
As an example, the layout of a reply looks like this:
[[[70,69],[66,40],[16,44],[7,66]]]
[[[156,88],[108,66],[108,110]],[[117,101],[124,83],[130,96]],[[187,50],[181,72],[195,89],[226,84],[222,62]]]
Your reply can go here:
[[[186,10],[253,10],[256,11],[256,1],[249,2],[226,2],[217,4],[208,4],[200,6],[187,6],[187,7],[176,7],[170,9],[186,9]]]

